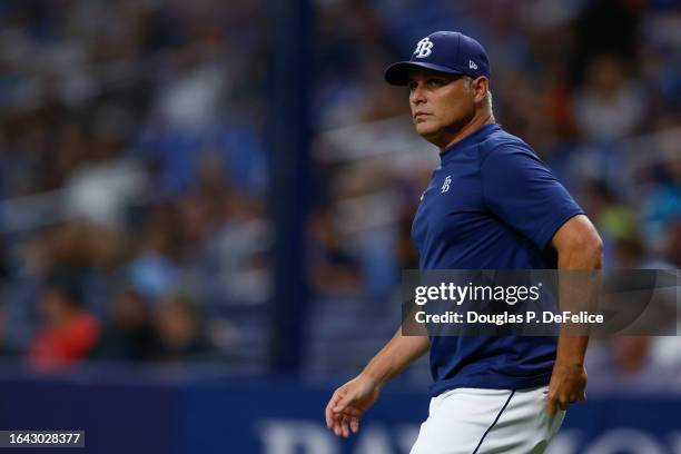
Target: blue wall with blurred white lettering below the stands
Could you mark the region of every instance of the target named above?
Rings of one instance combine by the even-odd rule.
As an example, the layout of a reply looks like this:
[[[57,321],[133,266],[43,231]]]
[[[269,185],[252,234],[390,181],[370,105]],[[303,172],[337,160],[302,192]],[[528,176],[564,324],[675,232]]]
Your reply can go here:
[[[73,450],[79,453],[408,453],[426,416],[424,391],[388,386],[361,433],[340,440],[324,425],[332,389],[272,377],[6,377],[0,378],[0,427],[82,428],[87,448]],[[591,394],[569,412],[552,453],[681,454],[681,394]]]

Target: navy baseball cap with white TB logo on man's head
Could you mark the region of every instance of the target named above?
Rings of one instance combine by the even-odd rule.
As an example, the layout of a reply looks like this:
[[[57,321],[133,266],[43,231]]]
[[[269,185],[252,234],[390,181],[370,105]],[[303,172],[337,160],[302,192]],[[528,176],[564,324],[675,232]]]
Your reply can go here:
[[[398,61],[385,70],[391,85],[405,86],[409,70],[426,68],[450,75],[490,78],[490,60],[480,42],[458,31],[436,31],[416,43],[408,61]]]

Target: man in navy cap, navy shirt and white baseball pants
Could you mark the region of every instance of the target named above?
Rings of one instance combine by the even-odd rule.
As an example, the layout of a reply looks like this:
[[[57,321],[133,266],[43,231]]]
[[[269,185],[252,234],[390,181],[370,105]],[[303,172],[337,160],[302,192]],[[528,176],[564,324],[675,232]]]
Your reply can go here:
[[[529,145],[495,124],[477,41],[432,33],[385,78],[408,86],[416,131],[441,149],[412,228],[422,270],[600,268],[601,239],[582,209]],[[433,398],[413,454],[541,453],[568,405],[585,399],[586,344],[398,329],[336,389],[326,423],[339,436],[357,432],[383,384],[430,349]]]

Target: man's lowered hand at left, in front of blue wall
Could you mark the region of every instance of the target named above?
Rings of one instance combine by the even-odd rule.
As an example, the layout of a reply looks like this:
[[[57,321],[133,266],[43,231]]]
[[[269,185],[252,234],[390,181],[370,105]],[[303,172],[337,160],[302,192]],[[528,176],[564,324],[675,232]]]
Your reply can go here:
[[[379,384],[358,375],[334,392],[326,405],[326,426],[337,436],[348,437],[359,431],[359,420],[378,398]]]

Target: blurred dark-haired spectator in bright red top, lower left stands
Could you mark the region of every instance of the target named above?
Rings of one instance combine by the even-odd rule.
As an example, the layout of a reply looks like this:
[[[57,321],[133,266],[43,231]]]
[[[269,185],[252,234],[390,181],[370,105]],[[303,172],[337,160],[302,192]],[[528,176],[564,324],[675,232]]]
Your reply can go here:
[[[40,299],[43,324],[29,348],[30,365],[51,371],[72,366],[90,353],[100,336],[99,322],[82,307],[77,277],[52,277]]]

